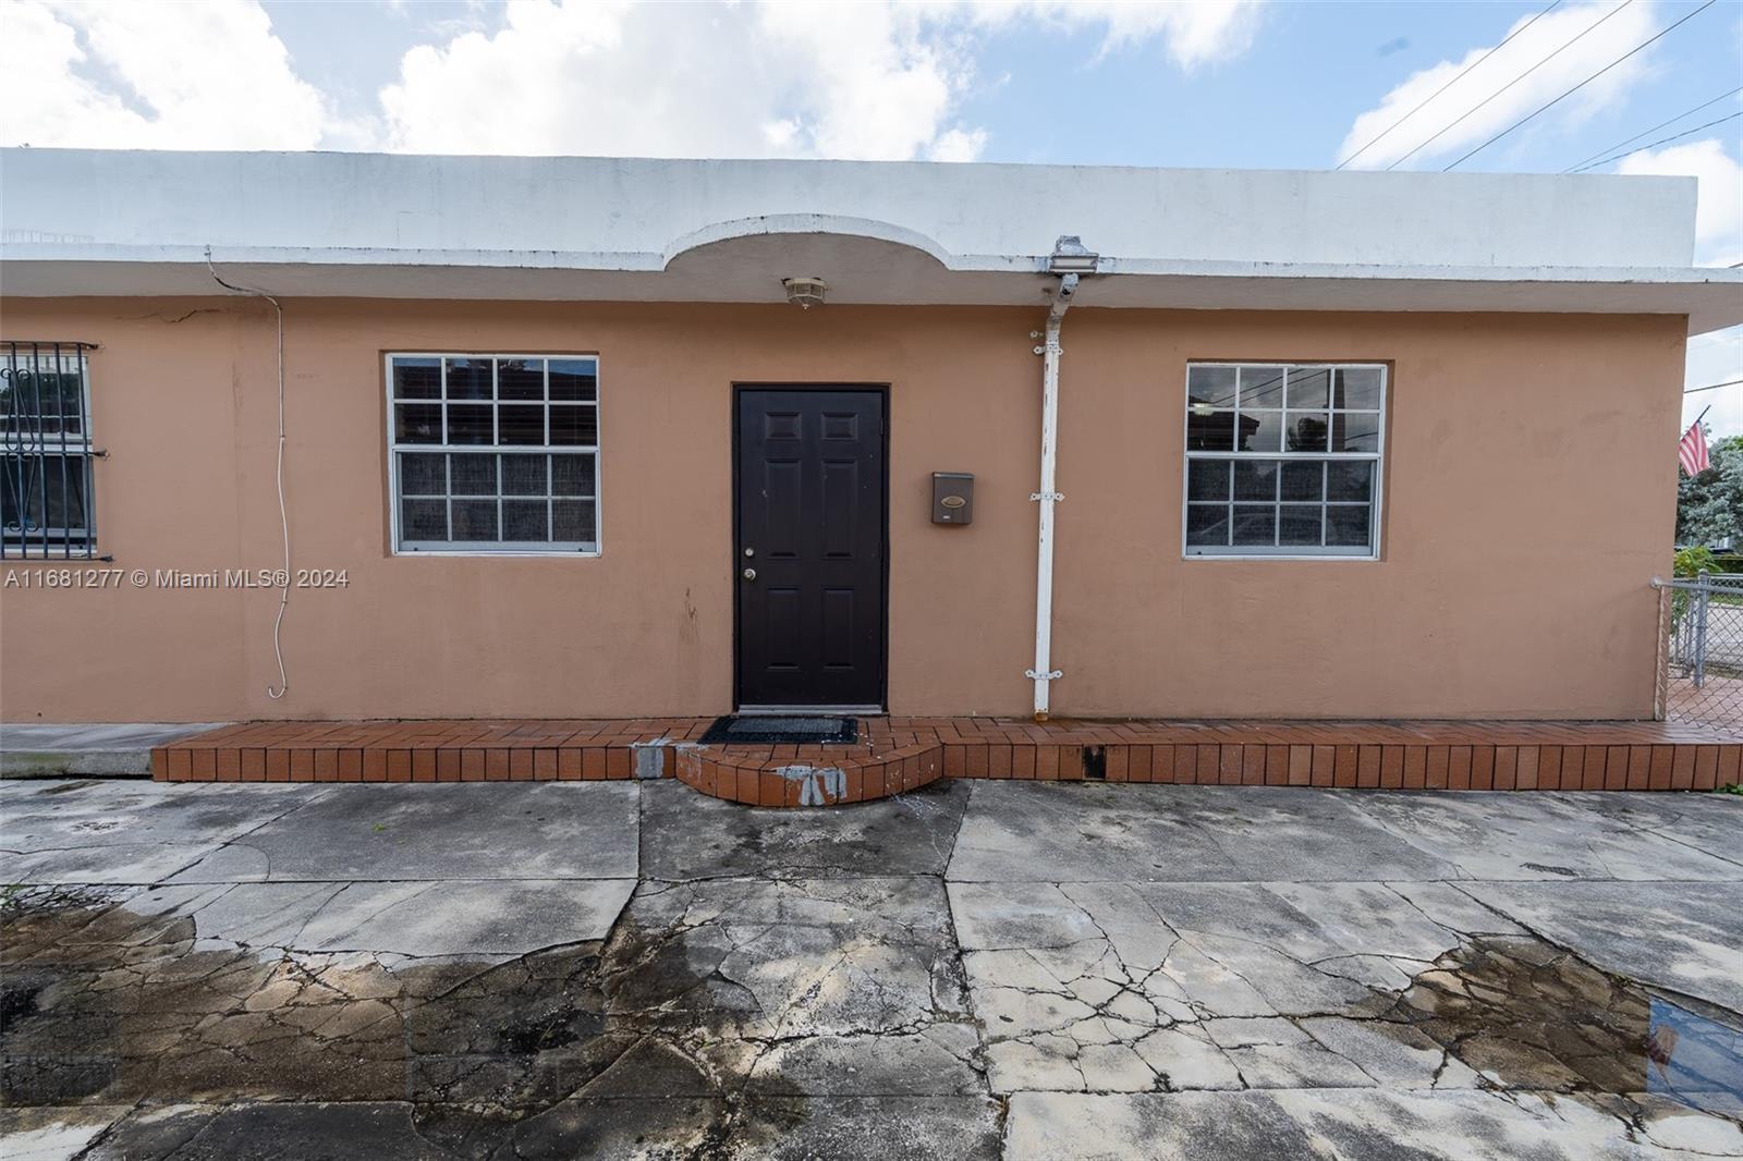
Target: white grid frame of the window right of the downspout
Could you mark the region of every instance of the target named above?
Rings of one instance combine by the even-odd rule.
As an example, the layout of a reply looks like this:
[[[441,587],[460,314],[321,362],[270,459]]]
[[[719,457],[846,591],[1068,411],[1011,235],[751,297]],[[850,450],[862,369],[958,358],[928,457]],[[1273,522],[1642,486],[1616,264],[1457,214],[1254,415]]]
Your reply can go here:
[[[1189,445],[1189,429],[1192,422],[1192,370],[1194,368],[1330,368],[1330,370],[1375,370],[1380,373],[1380,413],[1379,413],[1379,446],[1373,452],[1194,452]],[[1349,359],[1189,359],[1185,373],[1182,375],[1182,394],[1180,394],[1180,556],[1182,560],[1211,560],[1211,561],[1241,561],[1241,560],[1292,560],[1292,561],[1377,561],[1380,560],[1380,537],[1386,528],[1384,519],[1384,500],[1386,500],[1386,434],[1387,434],[1387,411],[1391,404],[1393,375],[1391,364],[1387,363],[1361,363]],[[1232,408],[1234,415],[1239,417],[1239,399]],[[1239,427],[1236,427],[1239,431]],[[1309,546],[1190,546],[1187,544],[1187,516],[1190,513],[1190,471],[1192,460],[1302,460],[1311,464],[1325,464],[1328,460],[1367,460],[1373,464],[1373,500],[1372,511],[1368,513],[1368,547],[1367,549],[1339,549],[1339,547],[1309,547]],[[1231,500],[1232,502],[1232,500]],[[1321,499],[1321,506],[1325,500]]]

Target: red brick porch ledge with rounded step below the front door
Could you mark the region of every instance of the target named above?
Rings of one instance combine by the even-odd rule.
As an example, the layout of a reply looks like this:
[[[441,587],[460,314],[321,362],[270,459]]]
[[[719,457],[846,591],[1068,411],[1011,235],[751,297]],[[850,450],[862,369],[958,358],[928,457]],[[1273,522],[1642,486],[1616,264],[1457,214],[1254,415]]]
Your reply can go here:
[[[680,777],[753,805],[858,802],[934,777],[1393,790],[1713,790],[1743,729],[1666,722],[866,718],[858,746],[697,746],[709,718],[254,722],[152,751],[162,781]],[[830,772],[838,771],[840,779]],[[807,798],[807,783],[814,788]]]

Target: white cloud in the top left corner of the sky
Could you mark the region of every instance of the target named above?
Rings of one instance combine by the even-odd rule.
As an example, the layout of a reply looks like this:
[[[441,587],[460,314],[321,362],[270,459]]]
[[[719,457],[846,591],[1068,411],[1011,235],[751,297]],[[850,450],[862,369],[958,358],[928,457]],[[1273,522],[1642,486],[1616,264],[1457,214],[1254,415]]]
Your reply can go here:
[[[251,0],[14,0],[3,21],[7,145],[312,148],[331,120]]]

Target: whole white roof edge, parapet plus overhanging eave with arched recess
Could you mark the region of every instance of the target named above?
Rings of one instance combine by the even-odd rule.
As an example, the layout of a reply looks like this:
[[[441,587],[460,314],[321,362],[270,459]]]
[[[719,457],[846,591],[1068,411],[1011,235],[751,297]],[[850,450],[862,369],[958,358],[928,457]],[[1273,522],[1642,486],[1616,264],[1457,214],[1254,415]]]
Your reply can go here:
[[[1384,305],[1358,293],[1347,309],[1651,309],[1705,326],[1734,293],[1743,319],[1743,275],[1691,270],[1692,178],[0,150],[10,295],[209,293],[211,246],[288,295],[779,302],[779,277],[804,274],[831,302],[1030,303],[1063,234],[1131,275],[1081,305],[1293,279],[1314,295],[1267,305],[1389,282]],[[1473,282],[1482,307],[1398,296]],[[1536,305],[1509,305],[1515,284],[1537,286]],[[1597,286],[1630,289],[1604,307]]]

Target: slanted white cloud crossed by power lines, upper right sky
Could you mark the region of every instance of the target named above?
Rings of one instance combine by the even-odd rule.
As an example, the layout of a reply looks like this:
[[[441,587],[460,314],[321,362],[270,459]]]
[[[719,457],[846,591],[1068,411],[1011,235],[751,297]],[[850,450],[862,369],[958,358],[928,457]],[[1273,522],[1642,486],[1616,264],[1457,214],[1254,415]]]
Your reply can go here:
[[[1609,19],[1597,24],[1607,14],[1611,14]],[[1529,16],[1522,17],[1508,33],[1518,31],[1529,19]],[[1380,98],[1379,106],[1356,117],[1349,127],[1349,134],[1346,134],[1344,143],[1339,146],[1339,160],[1361,150],[1360,157],[1351,162],[1351,167],[1382,169],[1410,153],[1433,134],[1454,126],[1454,122],[1457,122],[1455,127],[1447,129],[1433,145],[1410,157],[1410,164],[1459,157],[1616,61],[1658,31],[1658,10],[1647,0],[1637,0],[1619,10],[1611,0],[1556,9],[1537,19],[1530,28],[1518,31],[1518,37],[1482,64],[1476,64],[1476,61],[1494,45],[1471,49],[1461,59],[1441,61],[1433,68],[1412,73],[1403,84]],[[1588,28],[1591,31],[1574,42],[1574,37]],[[1499,40],[1497,37],[1497,44]],[[1569,45],[1569,42],[1574,44],[1506,89],[1499,98],[1482,105],[1485,98],[1501,91],[1502,85],[1523,75],[1537,61],[1550,58],[1562,45]],[[1591,113],[1621,99],[1645,77],[1649,58],[1651,49],[1628,58],[1556,105],[1544,117],[1551,124],[1560,122],[1563,126],[1591,117]],[[1473,64],[1475,68],[1471,68]],[[1471,71],[1459,77],[1464,68],[1471,68]],[[1454,80],[1455,77],[1457,80]],[[1447,91],[1433,96],[1441,85],[1447,85]],[[1422,105],[1424,101],[1426,105]],[[1410,110],[1417,105],[1422,105],[1422,108],[1412,113]],[[1464,117],[1466,113],[1469,117]],[[1461,117],[1464,117],[1462,122],[1459,120]],[[1403,124],[1398,124],[1400,119],[1405,119]],[[1387,132],[1394,124],[1398,127]],[[1380,136],[1382,132],[1384,136]],[[1370,145],[1377,138],[1379,141]],[[1368,148],[1363,150],[1363,146]]]

